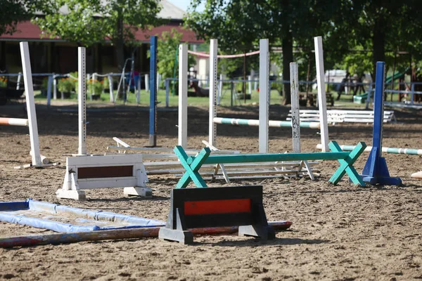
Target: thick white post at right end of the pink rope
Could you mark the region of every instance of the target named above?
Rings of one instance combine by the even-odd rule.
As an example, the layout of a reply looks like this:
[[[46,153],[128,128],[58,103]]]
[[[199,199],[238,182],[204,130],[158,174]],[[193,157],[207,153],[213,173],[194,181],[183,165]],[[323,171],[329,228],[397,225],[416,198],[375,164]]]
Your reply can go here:
[[[260,153],[268,153],[269,46],[260,39]]]

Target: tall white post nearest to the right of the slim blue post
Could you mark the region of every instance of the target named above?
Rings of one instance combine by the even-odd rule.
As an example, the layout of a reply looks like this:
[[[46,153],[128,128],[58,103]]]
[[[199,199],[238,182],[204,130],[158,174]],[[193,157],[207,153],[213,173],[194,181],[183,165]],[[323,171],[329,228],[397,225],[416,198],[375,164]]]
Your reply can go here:
[[[167,80],[169,81],[169,80]],[[168,86],[168,85],[167,85]],[[188,45],[179,45],[179,138],[183,148],[188,145]]]

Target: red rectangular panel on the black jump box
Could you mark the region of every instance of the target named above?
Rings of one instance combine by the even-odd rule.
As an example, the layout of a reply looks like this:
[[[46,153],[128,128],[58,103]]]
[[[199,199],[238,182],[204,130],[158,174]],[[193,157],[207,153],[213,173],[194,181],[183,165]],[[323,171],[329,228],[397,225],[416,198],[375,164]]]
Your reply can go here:
[[[184,202],[185,215],[250,213],[250,199]]]

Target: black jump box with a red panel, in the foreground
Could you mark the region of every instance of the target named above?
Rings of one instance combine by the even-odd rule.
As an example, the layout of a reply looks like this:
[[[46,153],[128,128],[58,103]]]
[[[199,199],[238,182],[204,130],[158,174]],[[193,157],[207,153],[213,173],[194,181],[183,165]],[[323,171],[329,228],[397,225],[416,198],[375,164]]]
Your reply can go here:
[[[274,239],[262,204],[262,186],[174,189],[169,217],[158,238],[190,244],[193,233],[188,229],[219,226],[239,226],[239,236]]]

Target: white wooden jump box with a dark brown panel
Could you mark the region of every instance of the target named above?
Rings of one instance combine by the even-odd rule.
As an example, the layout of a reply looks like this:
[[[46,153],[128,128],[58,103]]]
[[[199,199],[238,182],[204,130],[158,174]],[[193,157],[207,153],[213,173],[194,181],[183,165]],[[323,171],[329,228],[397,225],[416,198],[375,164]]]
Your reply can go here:
[[[124,195],[151,197],[142,155],[101,155],[67,157],[63,187],[58,198],[86,200],[84,190],[124,188]]]

